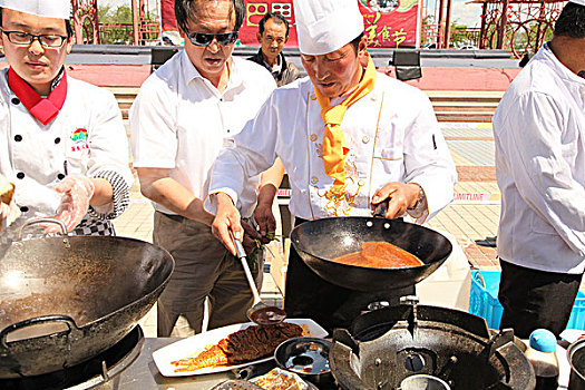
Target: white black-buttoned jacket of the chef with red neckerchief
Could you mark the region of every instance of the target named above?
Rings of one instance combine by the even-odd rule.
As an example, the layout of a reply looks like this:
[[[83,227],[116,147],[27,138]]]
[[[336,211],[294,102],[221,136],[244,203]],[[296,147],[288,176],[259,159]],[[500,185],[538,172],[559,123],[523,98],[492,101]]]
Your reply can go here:
[[[134,183],[116,98],[106,89],[65,76],[67,98],[45,126],[9,88],[7,71],[0,72],[0,173],[14,183],[22,220],[55,215],[61,196],[52,187],[65,176],[104,177],[114,182],[115,202],[91,208],[86,216],[90,223],[85,233],[98,233],[89,231],[91,221],[121,214]],[[117,187],[124,189],[118,194]]]

